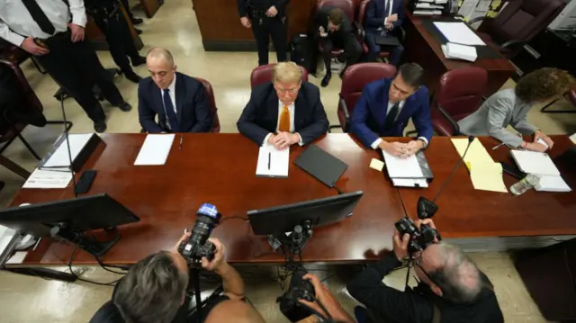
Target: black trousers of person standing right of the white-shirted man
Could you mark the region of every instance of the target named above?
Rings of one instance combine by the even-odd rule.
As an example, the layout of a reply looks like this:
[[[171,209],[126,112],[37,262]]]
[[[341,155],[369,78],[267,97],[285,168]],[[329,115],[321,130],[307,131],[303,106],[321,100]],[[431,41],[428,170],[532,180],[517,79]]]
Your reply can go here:
[[[130,61],[139,59],[140,53],[134,45],[134,40],[130,34],[130,27],[124,18],[120,9],[116,13],[112,13],[111,17],[104,14],[95,14],[94,22],[106,36],[110,53],[114,63],[124,72],[130,71]]]

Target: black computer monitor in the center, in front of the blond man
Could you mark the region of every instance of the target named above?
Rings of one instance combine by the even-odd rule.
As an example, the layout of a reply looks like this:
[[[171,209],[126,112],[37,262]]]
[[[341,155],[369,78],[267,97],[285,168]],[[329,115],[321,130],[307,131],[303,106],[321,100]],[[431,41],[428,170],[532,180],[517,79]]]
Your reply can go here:
[[[357,191],[269,209],[252,210],[247,212],[247,216],[256,235],[291,232],[295,226],[302,225],[305,221],[310,221],[313,228],[318,228],[350,217],[363,194],[362,191]]]

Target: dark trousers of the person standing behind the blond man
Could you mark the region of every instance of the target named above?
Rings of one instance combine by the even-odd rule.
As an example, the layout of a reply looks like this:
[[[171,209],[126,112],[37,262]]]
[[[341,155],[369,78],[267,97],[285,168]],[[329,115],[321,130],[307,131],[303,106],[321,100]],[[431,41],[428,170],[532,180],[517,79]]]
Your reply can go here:
[[[278,62],[288,60],[286,57],[286,37],[288,32],[286,17],[280,13],[274,17],[267,17],[264,13],[251,15],[252,32],[254,32],[254,38],[256,39],[259,66],[268,64],[269,37],[272,37]]]

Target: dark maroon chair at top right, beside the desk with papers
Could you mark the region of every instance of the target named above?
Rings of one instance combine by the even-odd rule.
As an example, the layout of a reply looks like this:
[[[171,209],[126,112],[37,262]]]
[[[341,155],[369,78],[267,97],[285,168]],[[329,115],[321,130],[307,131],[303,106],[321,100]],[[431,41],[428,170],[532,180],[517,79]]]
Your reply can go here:
[[[506,58],[513,58],[563,10],[563,0],[514,0],[495,17],[478,17],[479,35],[494,44]]]

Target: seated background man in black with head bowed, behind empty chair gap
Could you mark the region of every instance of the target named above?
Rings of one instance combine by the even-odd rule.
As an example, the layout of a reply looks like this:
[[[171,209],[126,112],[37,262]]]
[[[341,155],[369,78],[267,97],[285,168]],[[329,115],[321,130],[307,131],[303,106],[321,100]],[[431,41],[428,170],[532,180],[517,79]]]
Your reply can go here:
[[[344,75],[347,67],[355,64],[362,56],[362,47],[354,31],[352,22],[348,20],[346,13],[342,9],[330,5],[323,5],[314,16],[315,42],[320,40],[322,45],[322,58],[326,67],[326,76],[322,79],[322,86],[327,86],[332,77],[331,60],[332,50],[344,49],[344,53],[338,57],[340,61],[346,59],[346,67],[340,72],[340,77]],[[314,60],[315,62],[316,60]]]

